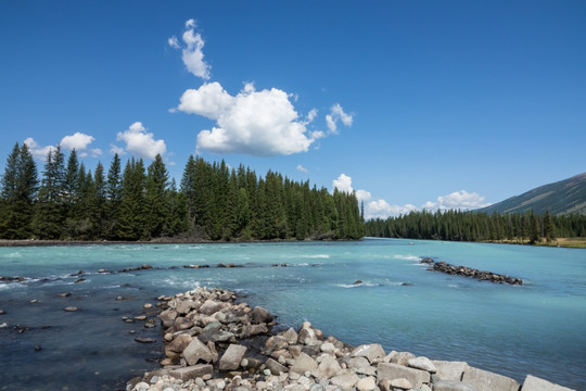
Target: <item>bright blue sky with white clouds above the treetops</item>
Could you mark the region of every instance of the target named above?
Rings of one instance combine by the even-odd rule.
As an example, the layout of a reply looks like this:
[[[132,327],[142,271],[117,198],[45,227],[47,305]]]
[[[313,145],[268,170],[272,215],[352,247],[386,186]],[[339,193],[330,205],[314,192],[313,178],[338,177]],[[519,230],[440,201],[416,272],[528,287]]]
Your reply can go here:
[[[15,142],[475,207],[586,171],[584,1],[2,1]]]

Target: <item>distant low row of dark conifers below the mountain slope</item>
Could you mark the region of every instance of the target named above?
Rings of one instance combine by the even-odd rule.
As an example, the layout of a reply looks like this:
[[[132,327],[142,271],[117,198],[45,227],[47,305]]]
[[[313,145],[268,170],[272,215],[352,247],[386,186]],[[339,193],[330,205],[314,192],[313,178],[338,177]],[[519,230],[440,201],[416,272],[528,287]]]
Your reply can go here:
[[[365,224],[366,235],[382,238],[451,241],[551,241],[555,238],[586,237],[586,216],[523,214],[488,215],[482,212],[410,212]]]

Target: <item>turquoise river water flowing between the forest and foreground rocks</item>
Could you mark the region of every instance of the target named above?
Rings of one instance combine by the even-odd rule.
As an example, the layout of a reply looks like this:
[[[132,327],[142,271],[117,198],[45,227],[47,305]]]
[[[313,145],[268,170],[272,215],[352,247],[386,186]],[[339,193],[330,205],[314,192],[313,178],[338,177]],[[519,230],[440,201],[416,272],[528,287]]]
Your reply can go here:
[[[428,272],[423,256],[525,283]],[[142,264],[153,269],[98,273]],[[182,267],[193,264],[211,267]],[[346,343],[586,389],[586,250],[396,239],[23,247],[0,248],[0,276],[25,277],[0,282],[0,390],[124,389],[157,367],[163,350],[158,325],[123,317],[143,314],[161,294],[204,286],[238,291],[282,326],[309,320]]]

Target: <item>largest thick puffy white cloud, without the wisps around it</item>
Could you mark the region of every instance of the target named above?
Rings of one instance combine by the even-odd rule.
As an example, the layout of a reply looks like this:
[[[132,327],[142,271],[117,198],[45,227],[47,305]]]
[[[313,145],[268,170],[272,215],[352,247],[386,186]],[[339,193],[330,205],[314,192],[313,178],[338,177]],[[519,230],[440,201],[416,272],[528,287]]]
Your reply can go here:
[[[178,111],[216,121],[212,130],[198,135],[198,149],[214,153],[272,156],[306,152],[315,141],[286,92],[256,91],[247,83],[232,97],[217,81],[183,92]]]

